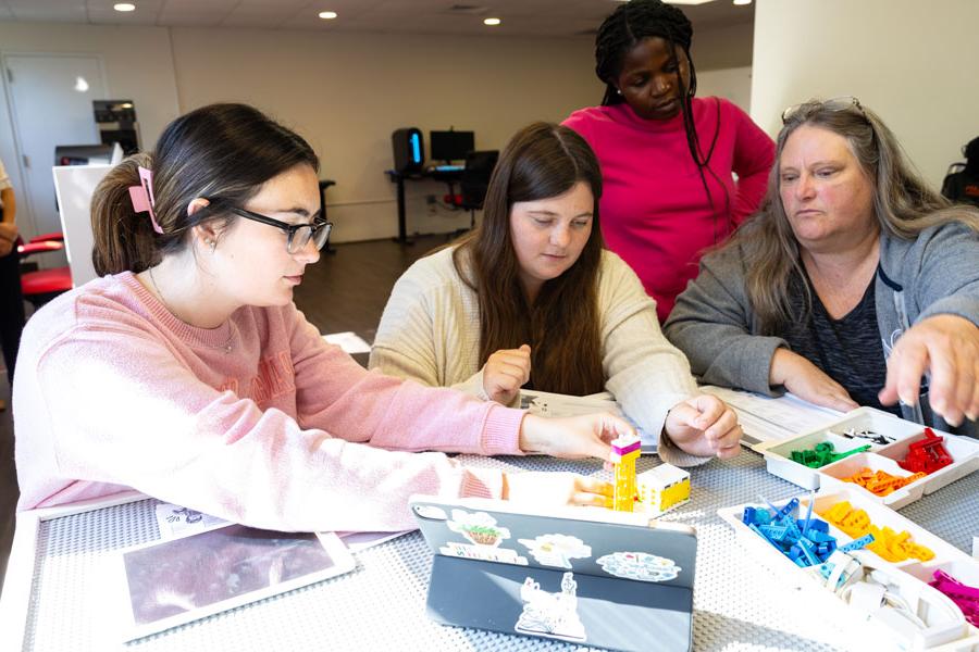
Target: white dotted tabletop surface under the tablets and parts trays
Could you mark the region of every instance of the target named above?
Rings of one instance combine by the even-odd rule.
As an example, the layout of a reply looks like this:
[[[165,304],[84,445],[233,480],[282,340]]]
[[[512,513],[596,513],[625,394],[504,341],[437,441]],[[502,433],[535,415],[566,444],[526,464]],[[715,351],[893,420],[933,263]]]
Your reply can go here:
[[[597,463],[542,457],[461,456],[472,466],[574,471],[608,477]],[[644,471],[657,459],[644,457]],[[819,589],[797,591],[757,568],[734,542],[715,511],[720,506],[772,501],[801,493],[765,472],[760,456],[744,452],[731,462],[691,469],[690,503],[664,519],[689,523],[698,532],[694,589],[695,650],[833,650],[854,645],[858,625],[841,603]],[[952,544],[968,550],[979,534],[979,474],[972,474],[902,510]],[[23,559],[15,542],[3,590],[27,603],[23,642],[4,650],[108,650],[111,609],[94,598],[106,584],[102,564],[114,551],[159,537],[154,500],[57,517],[41,524],[36,560]],[[574,645],[528,637],[443,627],[425,616],[432,554],[418,532],[358,553],[352,573],[211,616],[127,650],[573,650]],[[14,565],[34,566],[33,579],[10,586]],[[30,577],[26,575],[25,577]],[[460,587],[460,590],[464,590]],[[809,592],[811,591],[811,593]],[[24,602],[18,602],[23,607]],[[818,616],[814,613],[818,611]],[[828,626],[828,624],[830,626]],[[8,647],[4,647],[7,644]],[[655,641],[650,641],[655,649]],[[852,649],[857,649],[854,645]],[[868,648],[863,647],[864,652]],[[879,649],[879,648],[875,648]]]

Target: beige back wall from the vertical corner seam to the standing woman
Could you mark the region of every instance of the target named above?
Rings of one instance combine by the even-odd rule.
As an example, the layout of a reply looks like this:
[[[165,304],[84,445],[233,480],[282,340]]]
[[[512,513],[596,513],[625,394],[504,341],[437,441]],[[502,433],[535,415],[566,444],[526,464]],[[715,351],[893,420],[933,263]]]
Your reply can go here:
[[[561,121],[597,103],[592,43],[487,37],[173,29],[182,110],[244,101],[305,136],[322,159],[335,241],[397,233],[391,133],[419,127],[475,131],[478,149],[500,149],[534,120]],[[458,187],[457,187],[458,191]],[[406,186],[408,231],[469,225],[468,212],[430,216],[425,196],[446,186]]]

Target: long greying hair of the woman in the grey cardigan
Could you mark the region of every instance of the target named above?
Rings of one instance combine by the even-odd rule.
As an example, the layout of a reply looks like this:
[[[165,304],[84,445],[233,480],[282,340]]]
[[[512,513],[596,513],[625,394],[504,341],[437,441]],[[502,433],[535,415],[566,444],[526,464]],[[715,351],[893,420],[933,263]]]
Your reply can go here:
[[[847,100],[850,100],[847,98]],[[979,211],[953,206],[928,187],[905,160],[894,134],[876,113],[856,99],[810,100],[792,110],[779,133],[776,164],[768,176],[768,191],[758,214],[745,222],[722,248],[741,249],[745,289],[763,334],[772,335],[793,318],[790,283],[803,277],[798,241],[792,233],[780,195],[779,174],[785,141],[801,126],[813,125],[846,139],[865,176],[872,185],[873,212],[881,230],[914,240],[926,228],[957,222],[979,231]],[[811,297],[806,288],[806,305]]]

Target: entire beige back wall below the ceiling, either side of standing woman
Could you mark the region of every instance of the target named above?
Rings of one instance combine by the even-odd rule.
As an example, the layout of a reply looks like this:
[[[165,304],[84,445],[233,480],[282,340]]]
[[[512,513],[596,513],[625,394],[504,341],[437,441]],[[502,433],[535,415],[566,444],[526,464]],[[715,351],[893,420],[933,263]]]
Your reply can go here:
[[[694,57],[707,82],[703,92],[718,92],[710,68],[747,63],[751,28],[735,25],[696,35]],[[337,181],[326,199],[338,242],[397,231],[395,187],[384,175],[393,163],[394,129],[416,126],[427,140],[430,129],[454,125],[474,130],[478,148],[499,149],[526,123],[559,122],[574,109],[596,104],[603,93],[591,38],[0,22],[0,52],[100,54],[110,95],[136,102],[145,148],[183,112],[215,101],[256,104],[303,135],[321,156],[321,176]],[[727,78],[719,75],[714,77]],[[14,185],[22,186],[14,154],[3,101],[0,158]],[[445,185],[435,181],[408,184],[409,233],[468,226],[464,212],[429,214],[426,196],[441,199],[445,192]]]

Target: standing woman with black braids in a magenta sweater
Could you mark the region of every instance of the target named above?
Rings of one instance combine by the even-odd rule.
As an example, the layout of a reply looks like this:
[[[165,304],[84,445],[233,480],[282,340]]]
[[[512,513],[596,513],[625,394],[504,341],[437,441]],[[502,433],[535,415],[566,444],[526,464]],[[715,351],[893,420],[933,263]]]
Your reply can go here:
[[[683,12],[659,0],[618,7],[595,41],[605,99],[563,123],[598,156],[605,242],[656,300],[660,323],[703,251],[758,208],[774,156],[741,109],[694,98],[692,38]]]

